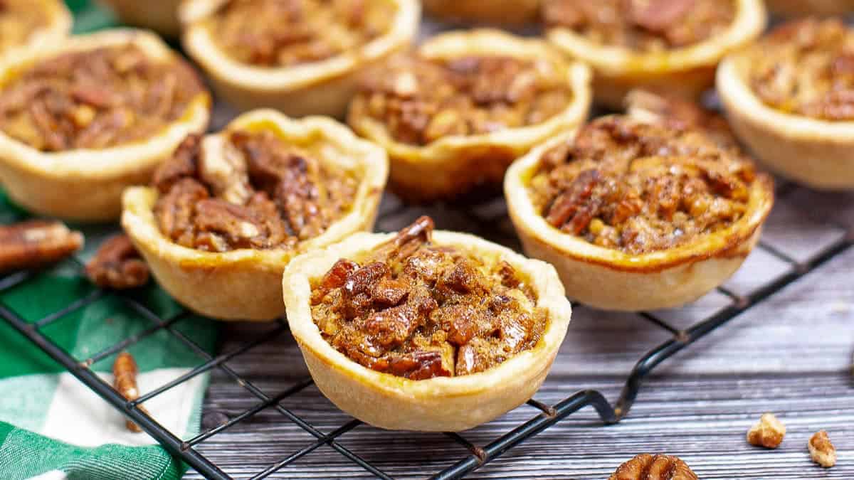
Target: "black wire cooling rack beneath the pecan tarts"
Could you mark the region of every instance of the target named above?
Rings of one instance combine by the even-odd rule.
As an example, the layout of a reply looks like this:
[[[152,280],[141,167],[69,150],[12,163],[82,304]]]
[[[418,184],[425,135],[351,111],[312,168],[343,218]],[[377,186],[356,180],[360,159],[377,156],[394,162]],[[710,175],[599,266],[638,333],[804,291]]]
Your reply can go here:
[[[783,190],[783,188],[778,189],[778,191],[781,190]],[[491,202],[491,205],[496,205],[496,202]],[[486,207],[483,207],[482,205],[480,207],[476,206],[473,208],[471,206],[456,209],[453,207],[447,207],[447,212],[456,214],[465,219],[466,224],[471,227],[468,229],[469,231],[477,231],[478,233],[491,231],[494,233],[496,225],[499,224],[502,219],[506,220],[506,213],[503,210],[503,202],[497,202],[497,206],[497,209],[489,207],[489,204],[487,204]],[[439,210],[441,212],[444,209],[445,208],[443,207]],[[483,211],[484,209],[487,211],[490,211],[491,209],[491,213],[478,214],[478,212]],[[402,218],[405,217],[407,220],[411,220],[411,218],[414,218],[412,216],[414,214],[410,210],[410,208],[403,206],[399,202],[395,204],[394,200],[392,200],[392,202],[386,202],[383,205],[383,213],[380,215],[380,225],[394,225],[396,223],[394,220],[395,218],[401,218],[402,220]],[[502,243],[511,243],[518,248],[518,243],[515,238],[508,237],[506,232],[494,233],[492,236],[485,236],[492,237],[493,239],[495,239],[495,237],[503,238],[504,240]],[[652,313],[640,314],[640,317],[646,319],[650,324],[670,332],[670,339],[652,348],[644,354],[640,360],[638,360],[623,386],[622,393],[613,405],[611,405],[611,403],[609,403],[605,399],[605,396],[600,392],[594,389],[586,389],[578,391],[576,394],[570,395],[564,400],[553,405],[547,405],[534,399],[529,400],[528,405],[540,410],[540,413],[523,424],[519,424],[516,428],[505,435],[499,436],[495,438],[494,441],[483,446],[475,445],[466,440],[465,436],[463,436],[465,433],[460,435],[458,433],[448,432],[446,436],[449,441],[461,444],[468,450],[469,454],[464,458],[459,459],[457,463],[447,467],[446,469],[436,471],[433,474],[433,478],[450,479],[465,477],[472,471],[477,470],[477,468],[496,459],[501,454],[506,453],[519,443],[537,435],[543,430],[546,430],[553,424],[557,424],[562,419],[565,419],[583,407],[594,407],[603,424],[614,424],[619,422],[629,414],[641,386],[656,366],[661,364],[664,360],[669,359],[683,348],[687,348],[693,342],[705,337],[711,331],[727,324],[728,321],[734,319],[747,309],[755,306],[758,302],[773,295],[778,290],[781,290],[781,288],[785,287],[787,284],[791,284],[804,274],[814,270],[817,266],[822,265],[846,249],[851,248],[852,245],[854,245],[854,236],[851,234],[841,236],[833,243],[826,245],[822,251],[817,253],[817,255],[813,255],[810,260],[798,261],[781,250],[775,249],[775,247],[769,244],[760,243],[757,248],[765,249],[770,255],[774,255],[778,259],[787,262],[787,264],[792,266],[792,268],[788,269],[786,274],[773,279],[768,284],[762,285],[757,290],[753,290],[748,296],[736,295],[725,288],[718,289],[718,291],[723,295],[732,299],[729,306],[718,311],[711,317],[691,325],[687,329],[677,329],[670,323],[663,319],[659,319]],[[83,265],[76,259],[73,260],[73,262],[79,269],[79,274],[82,275]],[[12,289],[17,285],[24,284],[33,277],[34,273],[32,272],[14,272],[0,278],[0,292]],[[80,308],[90,305],[104,296],[117,296],[126,304],[127,307],[130,307],[144,319],[148,319],[150,326],[146,330],[140,331],[131,337],[127,337],[125,340],[118,342],[109,348],[105,348],[97,354],[92,354],[88,358],[73,357],[73,355],[69,354],[66,349],[61,348],[54,340],[44,334],[44,328],[46,326],[53,324],[54,322],[61,321],[61,319],[66,317],[69,313],[78,311]],[[293,422],[298,425],[302,430],[305,430],[308,434],[313,436],[314,440],[313,442],[307,443],[303,448],[293,454],[290,454],[271,465],[267,465],[266,468],[258,471],[253,477],[251,477],[252,479],[268,477],[272,473],[290,465],[295,460],[298,460],[307,454],[311,454],[314,450],[325,445],[335,450],[338,454],[343,455],[348,460],[360,465],[376,477],[391,478],[388,474],[378,469],[376,465],[372,465],[360,455],[354,454],[352,450],[343,446],[338,441],[342,436],[347,434],[348,431],[359,426],[361,424],[359,420],[350,420],[347,423],[342,424],[342,426],[336,430],[325,433],[313,426],[313,424],[309,423],[306,419],[301,418],[291,412],[288,408],[281,405],[281,402],[285,398],[290,395],[295,395],[297,392],[300,392],[302,389],[306,389],[310,386],[312,384],[311,378],[306,378],[295,383],[295,385],[284,390],[278,395],[270,396],[266,395],[253,383],[249,382],[246,378],[243,378],[237,372],[232,370],[231,367],[226,365],[226,362],[235,359],[238,355],[244,354],[262,343],[271,342],[273,339],[278,337],[279,334],[284,333],[284,331],[288,329],[285,319],[279,319],[278,321],[272,322],[271,329],[269,331],[266,331],[259,337],[244,343],[239,348],[232,349],[225,353],[211,355],[208,354],[208,352],[199,344],[190,339],[190,337],[187,337],[182,331],[179,331],[178,328],[176,328],[175,324],[189,315],[191,315],[190,312],[183,312],[169,318],[162,318],[155,313],[151,307],[147,306],[145,301],[140,300],[132,293],[125,294],[102,290],[95,290],[91,294],[79,298],[77,301],[73,301],[66,307],[61,308],[56,313],[51,313],[43,319],[38,319],[36,321],[27,321],[21,318],[18,313],[10,309],[8,306],[0,303],[0,317],[9,322],[10,325],[14,326],[21,334],[36,344],[38,348],[44,350],[45,353],[49,354],[50,357],[64,366],[68,372],[71,372],[81,382],[85,383],[90,389],[96,392],[97,395],[100,395],[104,400],[108,401],[110,405],[124,413],[127,418],[136,422],[143,430],[148,432],[150,436],[154,437],[157,442],[160,442],[163,447],[167,448],[171,453],[184,460],[204,477],[211,479],[231,479],[225,471],[220,469],[218,465],[215,465],[212,460],[208,459],[208,457],[196,449],[200,444],[210,440],[213,436],[217,436],[219,433],[228,430],[235,424],[247,422],[254,415],[262,411],[274,409],[278,411],[278,413],[282,414],[284,421]],[[113,354],[117,354],[158,331],[167,331],[173,337],[176,337],[178,341],[182,342],[187,348],[190,348],[190,350],[198,354],[203,359],[202,365],[196,366],[190,370],[190,372],[186,372],[184,375],[179,378],[175,378],[169,383],[150,390],[135,401],[126,401],[126,399],[120,395],[118,391],[113,389],[109,383],[106,383],[92,371],[91,366],[97,361],[106,359]],[[231,418],[226,419],[213,428],[202,430],[201,433],[189,440],[182,440],[173,434],[173,432],[164,428],[155,418],[150,417],[149,414],[145,413],[144,410],[140,408],[144,402],[151,400],[155,396],[161,395],[167,390],[173,389],[179,384],[187,382],[191,378],[196,378],[196,376],[201,375],[204,372],[212,371],[213,369],[219,369],[219,371],[225,373],[227,377],[233,379],[236,383],[242,386],[243,389],[248,390],[251,395],[254,395],[257,399],[257,403],[254,407],[243,411],[243,413],[231,416]]]

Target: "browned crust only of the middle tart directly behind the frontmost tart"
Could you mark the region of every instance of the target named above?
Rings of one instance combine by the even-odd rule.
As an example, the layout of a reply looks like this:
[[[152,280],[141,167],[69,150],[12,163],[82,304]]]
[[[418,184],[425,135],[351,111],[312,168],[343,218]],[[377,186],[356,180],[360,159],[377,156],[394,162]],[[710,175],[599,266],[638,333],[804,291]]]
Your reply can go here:
[[[408,201],[453,199],[480,184],[498,184],[513,159],[587,117],[592,96],[589,68],[579,62],[564,63],[539,40],[488,29],[450,32],[431,38],[420,47],[418,55],[428,60],[471,56],[549,59],[565,68],[572,98],[563,111],[538,124],[477,135],[448,135],[422,146],[393,138],[383,122],[366,113],[366,98],[355,97],[348,123],[362,137],[389,152],[392,188]]]

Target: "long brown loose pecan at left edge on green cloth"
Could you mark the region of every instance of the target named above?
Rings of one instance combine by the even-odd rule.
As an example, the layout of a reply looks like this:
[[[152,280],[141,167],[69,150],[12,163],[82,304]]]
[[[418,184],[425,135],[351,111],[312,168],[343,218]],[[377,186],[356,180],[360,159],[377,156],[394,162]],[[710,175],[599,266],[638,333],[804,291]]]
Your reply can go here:
[[[55,263],[81,247],[83,234],[58,221],[0,225],[0,272]]]

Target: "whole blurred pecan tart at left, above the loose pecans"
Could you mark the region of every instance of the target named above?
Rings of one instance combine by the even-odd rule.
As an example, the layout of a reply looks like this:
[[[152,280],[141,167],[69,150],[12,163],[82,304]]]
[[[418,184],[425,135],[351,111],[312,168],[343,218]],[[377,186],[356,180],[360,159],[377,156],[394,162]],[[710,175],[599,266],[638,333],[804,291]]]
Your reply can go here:
[[[113,30],[28,50],[0,67],[0,181],[38,214],[114,220],[190,133],[210,96],[154,34]]]

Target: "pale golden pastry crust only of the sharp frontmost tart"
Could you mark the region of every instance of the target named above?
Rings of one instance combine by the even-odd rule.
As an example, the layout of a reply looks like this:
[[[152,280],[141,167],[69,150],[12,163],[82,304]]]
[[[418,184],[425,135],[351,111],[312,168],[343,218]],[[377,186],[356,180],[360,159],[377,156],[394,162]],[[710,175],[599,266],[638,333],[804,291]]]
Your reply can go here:
[[[344,412],[389,430],[459,431],[483,424],[527,401],[540,388],[563,342],[571,307],[552,266],[462,233],[436,231],[433,242],[508,261],[533,282],[546,330],[534,348],[484,372],[410,380],[376,372],[338,352],[320,335],[311,313],[311,284],[342,258],[377,247],[394,234],[359,234],[291,261],[284,301],[291,332],[320,391]]]

